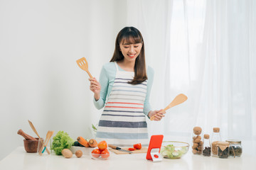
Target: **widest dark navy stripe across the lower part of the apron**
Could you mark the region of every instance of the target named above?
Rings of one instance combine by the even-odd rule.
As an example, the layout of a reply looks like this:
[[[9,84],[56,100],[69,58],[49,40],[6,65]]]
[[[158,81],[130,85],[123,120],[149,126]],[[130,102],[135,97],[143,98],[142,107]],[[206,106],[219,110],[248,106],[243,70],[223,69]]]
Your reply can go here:
[[[100,120],[99,126],[102,127],[116,127],[116,128],[146,128],[146,121],[143,122],[124,122],[124,121],[110,121]]]

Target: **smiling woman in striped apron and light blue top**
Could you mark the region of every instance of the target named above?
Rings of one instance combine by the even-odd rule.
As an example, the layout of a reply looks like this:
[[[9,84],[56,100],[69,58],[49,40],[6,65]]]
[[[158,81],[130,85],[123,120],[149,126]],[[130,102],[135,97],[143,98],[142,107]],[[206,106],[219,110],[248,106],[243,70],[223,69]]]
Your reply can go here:
[[[100,82],[89,79],[95,107],[105,106],[97,140],[118,146],[149,144],[145,115],[155,115],[154,120],[159,121],[165,113],[151,111],[153,78],[154,70],[146,70],[142,34],[134,27],[123,28],[117,35],[112,59],[102,67]]]

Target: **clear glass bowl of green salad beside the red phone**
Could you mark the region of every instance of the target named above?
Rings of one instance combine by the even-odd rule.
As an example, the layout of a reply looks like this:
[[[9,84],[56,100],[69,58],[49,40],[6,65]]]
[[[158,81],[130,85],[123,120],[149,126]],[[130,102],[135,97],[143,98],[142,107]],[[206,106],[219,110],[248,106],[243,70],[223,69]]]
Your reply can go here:
[[[165,141],[162,142],[160,154],[167,159],[178,159],[188,152],[189,144],[186,142]]]

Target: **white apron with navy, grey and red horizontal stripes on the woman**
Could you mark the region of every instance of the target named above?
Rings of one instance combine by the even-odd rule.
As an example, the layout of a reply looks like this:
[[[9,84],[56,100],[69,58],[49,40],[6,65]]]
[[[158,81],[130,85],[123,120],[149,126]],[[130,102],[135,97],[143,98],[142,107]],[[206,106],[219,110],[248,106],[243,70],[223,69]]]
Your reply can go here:
[[[117,66],[117,65],[116,65]],[[96,140],[118,146],[148,144],[146,117],[143,113],[146,81],[128,84],[134,73],[117,72],[97,128]]]

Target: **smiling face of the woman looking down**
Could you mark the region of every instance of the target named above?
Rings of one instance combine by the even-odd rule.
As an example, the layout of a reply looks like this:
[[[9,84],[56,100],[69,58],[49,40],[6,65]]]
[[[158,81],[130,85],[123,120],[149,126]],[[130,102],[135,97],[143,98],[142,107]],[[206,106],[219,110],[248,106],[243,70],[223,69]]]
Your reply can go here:
[[[135,62],[136,58],[139,56],[142,50],[142,42],[140,43],[132,43],[127,42],[127,40],[122,40],[119,44],[122,55],[124,56],[124,60],[127,62]]]

